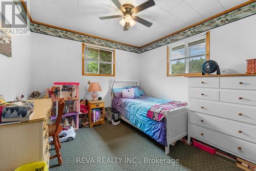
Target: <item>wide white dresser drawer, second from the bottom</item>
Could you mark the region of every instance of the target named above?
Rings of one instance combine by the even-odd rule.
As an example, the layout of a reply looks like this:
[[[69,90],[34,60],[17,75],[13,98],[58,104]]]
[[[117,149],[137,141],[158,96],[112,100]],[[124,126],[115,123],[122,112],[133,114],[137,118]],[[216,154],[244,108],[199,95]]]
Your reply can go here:
[[[189,112],[189,122],[256,143],[256,125],[194,112]]]

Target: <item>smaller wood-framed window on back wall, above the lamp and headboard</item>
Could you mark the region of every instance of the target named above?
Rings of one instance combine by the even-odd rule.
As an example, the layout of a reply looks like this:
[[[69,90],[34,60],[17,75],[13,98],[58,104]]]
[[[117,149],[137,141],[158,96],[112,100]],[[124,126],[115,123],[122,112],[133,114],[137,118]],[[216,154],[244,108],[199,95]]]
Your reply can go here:
[[[83,43],[82,75],[115,76],[115,50]]]

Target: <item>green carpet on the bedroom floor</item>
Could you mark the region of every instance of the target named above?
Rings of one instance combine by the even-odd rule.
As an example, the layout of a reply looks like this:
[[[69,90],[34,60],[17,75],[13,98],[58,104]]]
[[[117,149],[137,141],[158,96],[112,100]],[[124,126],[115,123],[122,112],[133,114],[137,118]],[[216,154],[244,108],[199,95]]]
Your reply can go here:
[[[58,166],[57,158],[50,160],[50,171],[241,170],[234,164],[180,141],[170,147],[169,155],[165,155],[164,146],[127,123],[112,126],[106,122],[104,125],[81,128],[76,131],[76,139],[62,142],[61,145],[63,164]],[[50,153],[55,154],[54,149]],[[81,163],[77,163],[77,158]],[[116,162],[109,163],[108,158]],[[115,158],[122,158],[121,162]],[[127,158],[134,159],[136,163],[127,162]],[[144,158],[153,159],[152,163],[145,163]],[[165,160],[165,163],[154,163],[156,158],[159,162],[160,159],[162,162]],[[179,163],[167,163],[174,162],[174,159],[179,159]]]

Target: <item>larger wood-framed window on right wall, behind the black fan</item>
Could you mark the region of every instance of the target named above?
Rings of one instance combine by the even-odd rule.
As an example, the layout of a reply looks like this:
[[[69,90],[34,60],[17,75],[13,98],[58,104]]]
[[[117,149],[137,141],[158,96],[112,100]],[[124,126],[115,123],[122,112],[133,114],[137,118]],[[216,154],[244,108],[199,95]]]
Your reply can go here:
[[[167,76],[201,74],[205,60],[209,60],[209,32],[170,44],[167,46]]]

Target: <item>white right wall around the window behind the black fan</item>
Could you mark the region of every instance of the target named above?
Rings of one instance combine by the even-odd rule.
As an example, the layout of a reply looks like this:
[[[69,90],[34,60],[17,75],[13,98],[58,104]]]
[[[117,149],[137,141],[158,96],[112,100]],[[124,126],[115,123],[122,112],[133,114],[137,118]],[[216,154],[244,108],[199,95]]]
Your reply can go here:
[[[256,15],[210,30],[210,59],[221,74],[246,72],[246,59],[256,58]],[[140,87],[146,94],[187,101],[187,78],[166,77],[166,46],[140,56]]]

